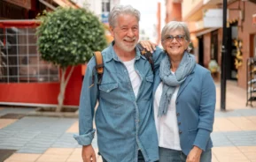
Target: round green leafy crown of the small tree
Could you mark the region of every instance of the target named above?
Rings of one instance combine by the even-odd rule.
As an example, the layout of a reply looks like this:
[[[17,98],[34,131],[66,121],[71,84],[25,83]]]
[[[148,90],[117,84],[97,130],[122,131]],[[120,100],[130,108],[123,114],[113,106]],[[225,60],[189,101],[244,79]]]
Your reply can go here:
[[[91,11],[58,8],[38,18],[38,50],[47,62],[62,68],[85,63],[106,46],[105,28]]]

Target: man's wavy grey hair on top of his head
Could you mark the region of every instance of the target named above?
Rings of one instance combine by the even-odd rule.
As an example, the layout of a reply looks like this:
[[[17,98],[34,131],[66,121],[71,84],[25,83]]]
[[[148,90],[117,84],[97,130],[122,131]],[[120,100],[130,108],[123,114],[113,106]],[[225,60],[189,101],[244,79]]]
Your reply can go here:
[[[129,14],[135,16],[138,22],[140,21],[141,13],[140,11],[133,8],[131,5],[116,5],[112,8],[112,11],[109,13],[108,22],[109,26],[116,26],[116,19],[120,14]]]

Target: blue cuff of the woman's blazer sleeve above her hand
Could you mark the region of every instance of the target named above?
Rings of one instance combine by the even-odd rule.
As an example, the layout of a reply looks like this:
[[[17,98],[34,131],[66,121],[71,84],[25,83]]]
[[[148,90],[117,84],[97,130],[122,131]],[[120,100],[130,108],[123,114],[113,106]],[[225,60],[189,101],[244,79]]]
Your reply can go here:
[[[196,136],[194,145],[198,146],[203,151],[206,151],[206,145],[210,139],[211,132],[206,129],[198,129],[198,135]]]

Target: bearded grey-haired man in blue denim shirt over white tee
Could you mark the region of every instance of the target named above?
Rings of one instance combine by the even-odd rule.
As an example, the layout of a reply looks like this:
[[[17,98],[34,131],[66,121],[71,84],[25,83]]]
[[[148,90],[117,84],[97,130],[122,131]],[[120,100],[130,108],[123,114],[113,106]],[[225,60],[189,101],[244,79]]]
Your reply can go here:
[[[114,40],[102,51],[104,75],[97,85],[95,58],[87,66],[81,89],[79,129],[84,162],[96,161],[91,146],[95,122],[99,153],[107,162],[153,162],[159,159],[158,137],[152,113],[153,71],[136,47],[140,12],[130,5],[115,6],[109,14]],[[159,63],[157,48],[153,54]],[[94,78],[94,79],[93,79]]]

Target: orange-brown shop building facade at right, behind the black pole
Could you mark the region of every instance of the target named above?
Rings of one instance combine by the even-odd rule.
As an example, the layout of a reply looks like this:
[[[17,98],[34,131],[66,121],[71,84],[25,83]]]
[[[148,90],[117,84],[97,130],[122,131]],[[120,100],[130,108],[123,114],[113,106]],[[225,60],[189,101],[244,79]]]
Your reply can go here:
[[[253,57],[256,26],[253,15],[256,12],[254,0],[228,1],[228,52],[227,79],[236,80],[237,85],[246,87],[246,60]],[[183,0],[182,20],[190,26],[194,54],[198,63],[209,68],[211,63],[221,66],[222,46],[222,1]],[[240,43],[238,48],[237,43]],[[213,77],[220,80],[220,70],[213,70]]]

